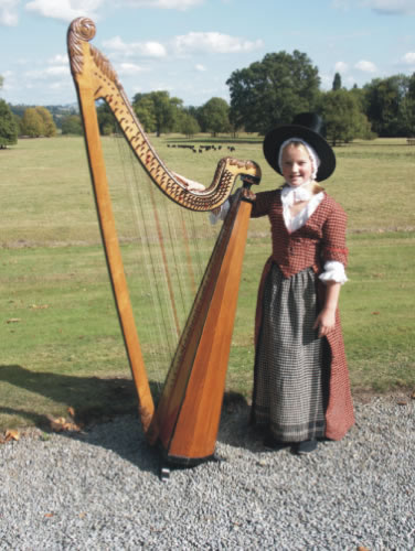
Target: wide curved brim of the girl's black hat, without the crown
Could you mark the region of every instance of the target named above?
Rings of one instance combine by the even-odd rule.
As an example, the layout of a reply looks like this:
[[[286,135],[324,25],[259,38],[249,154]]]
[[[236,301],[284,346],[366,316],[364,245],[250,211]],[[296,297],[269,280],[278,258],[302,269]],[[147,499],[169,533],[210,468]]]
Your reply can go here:
[[[278,174],[281,174],[281,170],[278,166],[279,149],[283,143],[290,138],[300,138],[316,150],[316,153],[320,159],[320,166],[316,176],[317,182],[327,180],[334,172],[336,155],[322,136],[307,127],[285,125],[270,130],[265,136],[263,143],[264,156],[269,165],[278,172]]]

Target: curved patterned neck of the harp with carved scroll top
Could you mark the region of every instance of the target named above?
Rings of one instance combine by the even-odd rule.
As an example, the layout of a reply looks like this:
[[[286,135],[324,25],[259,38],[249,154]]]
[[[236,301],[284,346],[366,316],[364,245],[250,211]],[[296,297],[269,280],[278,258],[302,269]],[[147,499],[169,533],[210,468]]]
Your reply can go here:
[[[87,18],[78,18],[70,26],[71,71],[81,108],[91,109],[91,104],[98,99],[108,104],[137,159],[166,195],[191,210],[212,210],[231,194],[237,176],[248,175],[259,180],[259,166],[253,161],[225,158],[219,162],[209,187],[199,184],[200,188],[191,190],[187,179],[178,177],[170,171],[149,142],[109,61],[89,44],[94,36],[95,24]]]

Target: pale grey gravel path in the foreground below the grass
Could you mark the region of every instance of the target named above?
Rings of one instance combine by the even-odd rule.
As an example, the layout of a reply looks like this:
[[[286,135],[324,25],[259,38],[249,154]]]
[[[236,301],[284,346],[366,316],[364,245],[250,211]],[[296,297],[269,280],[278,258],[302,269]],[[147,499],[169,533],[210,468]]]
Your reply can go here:
[[[0,445],[1,550],[415,549],[415,400],[357,403],[338,443],[266,452],[225,412],[227,461],[158,478],[137,419]]]

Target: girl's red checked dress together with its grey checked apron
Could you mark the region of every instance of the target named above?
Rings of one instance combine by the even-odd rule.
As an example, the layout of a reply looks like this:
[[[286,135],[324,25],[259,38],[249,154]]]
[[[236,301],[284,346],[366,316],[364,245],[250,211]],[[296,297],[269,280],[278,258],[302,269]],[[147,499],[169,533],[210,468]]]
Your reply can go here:
[[[256,195],[252,216],[265,215],[273,253],[258,291],[252,418],[280,441],[340,440],[354,415],[339,312],[327,337],[312,325],[324,299],[318,279],[324,263],[347,264],[347,217],[324,193],[307,223],[289,233],[280,190]]]

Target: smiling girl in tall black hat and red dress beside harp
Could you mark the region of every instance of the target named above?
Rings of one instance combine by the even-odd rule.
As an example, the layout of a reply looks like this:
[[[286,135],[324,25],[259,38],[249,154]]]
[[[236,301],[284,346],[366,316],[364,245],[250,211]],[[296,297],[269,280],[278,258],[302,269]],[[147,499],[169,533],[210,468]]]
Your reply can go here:
[[[345,214],[317,183],[336,168],[321,127],[301,114],[272,130],[264,154],[285,183],[252,195],[252,216],[268,216],[273,241],[257,301],[252,421],[267,429],[267,447],[299,454],[354,423],[338,313]]]

